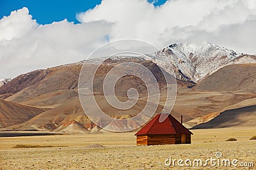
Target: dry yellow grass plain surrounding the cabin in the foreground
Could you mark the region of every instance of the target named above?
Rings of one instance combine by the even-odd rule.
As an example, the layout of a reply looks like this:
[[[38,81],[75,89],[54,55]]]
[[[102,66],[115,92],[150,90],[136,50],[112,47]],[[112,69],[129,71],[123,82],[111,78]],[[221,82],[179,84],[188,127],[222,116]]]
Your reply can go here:
[[[256,140],[249,140],[256,135],[255,127],[192,132],[191,145],[163,146],[136,146],[134,132],[0,138],[0,169],[255,169]],[[164,165],[170,156],[205,161],[216,159],[216,152],[223,154],[221,159],[239,160],[239,167]],[[240,162],[253,162],[253,167],[241,167]]]

